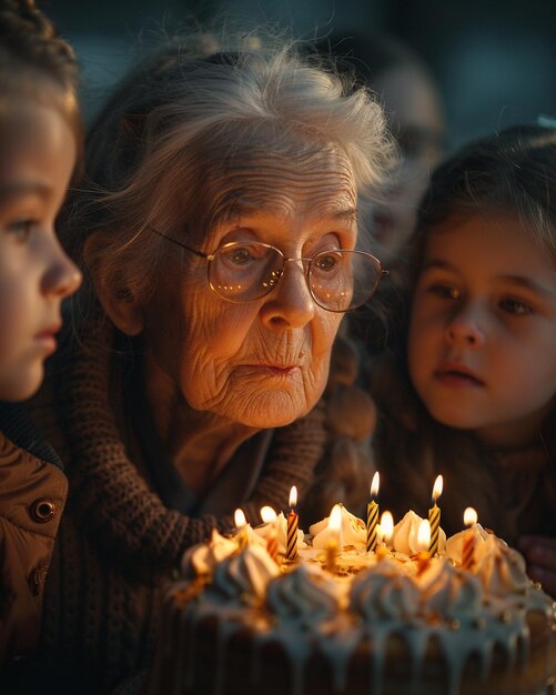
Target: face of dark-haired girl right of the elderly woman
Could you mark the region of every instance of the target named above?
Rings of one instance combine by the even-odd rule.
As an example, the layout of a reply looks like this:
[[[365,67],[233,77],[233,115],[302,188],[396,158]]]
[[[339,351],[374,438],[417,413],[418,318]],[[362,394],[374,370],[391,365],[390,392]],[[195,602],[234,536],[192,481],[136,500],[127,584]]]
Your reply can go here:
[[[413,384],[445,425],[536,441],[556,393],[556,268],[515,216],[429,233],[408,341]]]

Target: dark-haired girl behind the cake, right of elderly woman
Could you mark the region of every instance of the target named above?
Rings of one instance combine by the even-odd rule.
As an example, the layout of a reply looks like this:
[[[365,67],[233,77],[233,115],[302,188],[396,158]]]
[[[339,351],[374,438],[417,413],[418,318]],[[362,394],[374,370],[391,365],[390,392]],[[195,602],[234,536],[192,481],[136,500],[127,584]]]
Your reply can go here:
[[[556,129],[516,127],[433,175],[396,320],[374,371],[381,504],[447,533],[468,505],[556,595]]]

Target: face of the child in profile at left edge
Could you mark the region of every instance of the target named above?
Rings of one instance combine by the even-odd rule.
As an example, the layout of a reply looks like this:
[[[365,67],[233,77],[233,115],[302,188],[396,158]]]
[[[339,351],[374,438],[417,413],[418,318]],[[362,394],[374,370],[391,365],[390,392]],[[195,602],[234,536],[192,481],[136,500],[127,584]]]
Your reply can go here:
[[[12,104],[0,122],[0,399],[40,385],[55,350],[61,302],[81,274],[62,251],[54,220],[75,161],[58,111]]]

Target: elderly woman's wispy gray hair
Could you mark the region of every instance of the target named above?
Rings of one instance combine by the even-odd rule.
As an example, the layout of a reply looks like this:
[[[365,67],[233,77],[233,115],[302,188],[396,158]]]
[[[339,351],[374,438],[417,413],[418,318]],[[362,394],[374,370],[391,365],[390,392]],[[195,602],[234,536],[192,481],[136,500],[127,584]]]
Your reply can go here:
[[[78,260],[92,232],[105,234],[104,276],[94,258],[89,262],[95,283],[114,283],[125,269],[134,293],[152,290],[163,241],[149,234],[145,243],[145,230],[206,230],[211,219],[200,201],[211,170],[239,152],[340,152],[364,195],[393,159],[370,92],[323,68],[302,44],[253,48],[250,40],[202,56],[185,49],[198,39],[182,38],[149,57],[117,87],[92,128],[88,181],[72,197],[65,226]]]

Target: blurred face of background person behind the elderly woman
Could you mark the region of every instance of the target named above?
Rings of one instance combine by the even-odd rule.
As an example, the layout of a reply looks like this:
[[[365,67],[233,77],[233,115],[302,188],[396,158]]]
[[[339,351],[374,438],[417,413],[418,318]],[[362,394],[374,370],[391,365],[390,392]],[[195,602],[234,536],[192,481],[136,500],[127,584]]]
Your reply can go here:
[[[386,70],[373,90],[384,104],[401,154],[385,200],[372,213],[377,254],[388,259],[413,232],[417,204],[443,153],[445,127],[436,88],[419,68]]]

